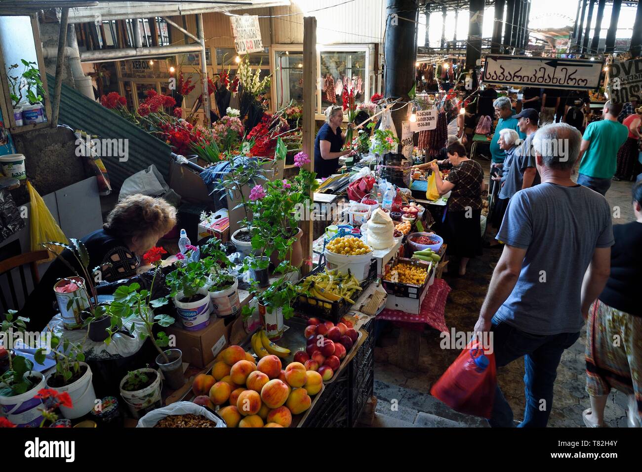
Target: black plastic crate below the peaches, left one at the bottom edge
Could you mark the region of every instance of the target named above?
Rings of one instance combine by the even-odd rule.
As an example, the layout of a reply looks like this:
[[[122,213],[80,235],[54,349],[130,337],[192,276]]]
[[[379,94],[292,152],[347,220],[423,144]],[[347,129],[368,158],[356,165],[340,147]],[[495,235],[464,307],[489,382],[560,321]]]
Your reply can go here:
[[[332,383],[325,385],[319,403],[309,413],[306,428],[347,428],[350,415],[348,369]]]

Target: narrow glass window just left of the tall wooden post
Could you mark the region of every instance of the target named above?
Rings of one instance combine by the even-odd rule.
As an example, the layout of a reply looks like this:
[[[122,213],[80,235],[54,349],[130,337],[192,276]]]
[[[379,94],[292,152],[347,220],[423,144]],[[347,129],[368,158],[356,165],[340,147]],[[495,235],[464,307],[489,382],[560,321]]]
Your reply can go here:
[[[303,53],[276,51],[272,87],[276,90],[275,109],[286,107],[291,100],[303,103]]]

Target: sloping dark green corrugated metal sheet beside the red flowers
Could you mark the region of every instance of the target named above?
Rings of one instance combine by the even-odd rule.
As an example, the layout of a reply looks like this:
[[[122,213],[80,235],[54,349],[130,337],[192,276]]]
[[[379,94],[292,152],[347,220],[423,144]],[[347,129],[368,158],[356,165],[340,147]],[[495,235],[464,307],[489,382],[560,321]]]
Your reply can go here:
[[[47,74],[49,96],[53,96],[55,77]],[[68,85],[62,84],[60,92],[60,125],[68,125],[73,130],[83,130],[96,134],[101,139],[128,139],[128,159],[120,162],[117,157],[103,157],[103,164],[109,173],[112,187],[119,188],[123,180],[139,170],[154,164],[169,182],[168,144],[152,134],[132,125],[129,121],[112,110],[108,110],[98,101],[91,100],[76,92]]]

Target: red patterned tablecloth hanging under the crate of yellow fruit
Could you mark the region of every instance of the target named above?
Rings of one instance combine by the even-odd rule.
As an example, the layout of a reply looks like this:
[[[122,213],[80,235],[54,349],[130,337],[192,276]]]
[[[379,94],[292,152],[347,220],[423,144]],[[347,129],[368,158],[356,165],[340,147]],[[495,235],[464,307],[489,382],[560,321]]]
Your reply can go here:
[[[414,324],[419,329],[424,328],[421,323],[428,323],[439,331],[448,332],[446,319],[444,319],[444,310],[446,308],[446,299],[450,290],[450,286],[446,281],[444,281],[444,279],[435,279],[435,282],[428,288],[428,293],[426,293],[426,297],[424,297],[424,302],[421,305],[419,315],[406,313],[401,310],[389,310],[388,308],[385,308],[381,313],[379,313],[379,315],[377,315],[377,318],[381,320],[394,321],[398,326],[409,326]],[[408,326],[404,327],[407,328]]]

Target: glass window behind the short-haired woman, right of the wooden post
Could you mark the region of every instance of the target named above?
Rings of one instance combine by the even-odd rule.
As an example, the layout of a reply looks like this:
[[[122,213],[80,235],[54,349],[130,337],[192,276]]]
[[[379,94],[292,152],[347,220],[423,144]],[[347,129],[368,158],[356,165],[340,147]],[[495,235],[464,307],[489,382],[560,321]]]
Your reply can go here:
[[[363,103],[368,93],[365,90],[367,74],[365,51],[321,51],[321,107],[342,103],[345,87],[353,89],[355,101]]]

